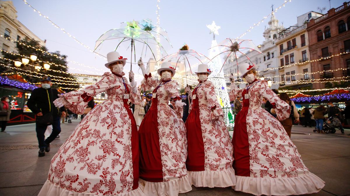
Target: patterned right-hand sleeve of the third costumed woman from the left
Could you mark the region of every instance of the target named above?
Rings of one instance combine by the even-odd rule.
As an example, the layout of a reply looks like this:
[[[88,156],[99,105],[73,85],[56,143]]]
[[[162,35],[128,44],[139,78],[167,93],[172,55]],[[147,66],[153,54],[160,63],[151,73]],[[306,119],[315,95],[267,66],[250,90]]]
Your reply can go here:
[[[207,82],[203,86],[203,90],[211,109],[210,120],[214,120],[216,116],[224,115],[216,97],[214,85],[211,82]]]

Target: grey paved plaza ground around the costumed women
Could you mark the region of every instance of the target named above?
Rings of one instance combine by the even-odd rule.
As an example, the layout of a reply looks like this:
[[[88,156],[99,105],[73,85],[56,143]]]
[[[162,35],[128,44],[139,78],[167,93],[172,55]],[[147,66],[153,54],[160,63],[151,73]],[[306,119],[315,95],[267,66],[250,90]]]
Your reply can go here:
[[[8,126],[0,134],[0,196],[36,196],[47,179],[50,160],[70,136],[78,121],[61,125],[61,138],[51,151],[38,157],[35,124]],[[345,134],[350,130],[345,129]],[[304,164],[326,182],[314,195],[350,195],[350,136],[317,134],[313,128],[293,126],[292,141]],[[196,188],[182,196],[250,195],[231,188]]]

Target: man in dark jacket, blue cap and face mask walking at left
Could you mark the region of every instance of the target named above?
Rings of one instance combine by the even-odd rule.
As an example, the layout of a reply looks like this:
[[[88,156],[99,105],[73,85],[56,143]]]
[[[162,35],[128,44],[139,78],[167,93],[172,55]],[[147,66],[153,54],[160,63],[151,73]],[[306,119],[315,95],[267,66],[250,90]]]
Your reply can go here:
[[[34,89],[28,99],[27,105],[29,109],[36,114],[38,118],[47,118],[52,115],[52,133],[44,140],[45,130],[48,126],[36,121],[36,136],[39,142],[39,157],[45,156],[45,152],[50,151],[50,143],[55,140],[56,136],[61,132],[60,119],[65,115],[64,106],[55,107],[53,101],[58,98],[57,89],[51,89],[51,78],[44,76],[41,80],[41,88]],[[43,117],[45,116],[45,117]]]

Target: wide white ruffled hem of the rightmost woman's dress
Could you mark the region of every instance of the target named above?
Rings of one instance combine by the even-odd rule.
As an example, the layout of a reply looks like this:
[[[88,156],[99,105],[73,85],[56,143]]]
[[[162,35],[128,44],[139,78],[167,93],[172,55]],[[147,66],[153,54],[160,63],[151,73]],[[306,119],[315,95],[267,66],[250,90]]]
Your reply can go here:
[[[236,180],[236,191],[253,195],[311,194],[320,191],[325,183],[311,172],[291,178],[253,178],[236,175]]]

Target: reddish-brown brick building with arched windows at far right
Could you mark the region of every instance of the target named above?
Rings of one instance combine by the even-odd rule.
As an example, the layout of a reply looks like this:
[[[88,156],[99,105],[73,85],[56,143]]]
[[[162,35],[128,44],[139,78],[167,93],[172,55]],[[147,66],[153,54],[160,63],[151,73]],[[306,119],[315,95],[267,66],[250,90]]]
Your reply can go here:
[[[325,58],[311,62],[311,72],[321,72],[312,74],[313,88],[323,89],[327,81],[349,80],[343,77],[350,75],[350,53],[337,54],[350,52],[350,2],[311,19],[307,25],[310,60]],[[339,68],[348,69],[328,71]]]

